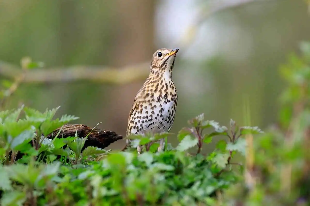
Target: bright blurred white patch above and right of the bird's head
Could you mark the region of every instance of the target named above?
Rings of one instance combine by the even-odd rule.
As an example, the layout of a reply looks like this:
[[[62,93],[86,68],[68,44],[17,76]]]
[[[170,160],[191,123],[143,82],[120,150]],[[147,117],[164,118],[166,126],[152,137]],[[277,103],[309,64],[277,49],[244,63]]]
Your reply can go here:
[[[180,47],[179,55],[184,59],[203,61],[216,54],[224,54],[234,61],[244,60],[251,53],[252,40],[246,31],[238,27],[234,16],[227,14],[223,21],[215,18],[216,13],[205,19],[203,16],[207,12],[248,1],[160,1],[155,17],[156,43],[164,47]],[[197,24],[201,18],[202,23]]]

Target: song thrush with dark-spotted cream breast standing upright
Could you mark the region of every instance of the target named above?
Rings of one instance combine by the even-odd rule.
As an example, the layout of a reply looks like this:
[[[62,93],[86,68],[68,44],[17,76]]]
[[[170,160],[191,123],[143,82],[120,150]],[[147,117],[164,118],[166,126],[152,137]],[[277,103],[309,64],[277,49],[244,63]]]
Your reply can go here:
[[[126,135],[169,132],[175,117],[178,95],[172,81],[175,55],[179,49],[158,49],[153,54],[150,73],[135,96]],[[130,140],[126,140],[127,145]],[[160,140],[158,151],[164,147]],[[125,147],[126,148],[126,147]],[[142,147],[138,146],[138,153]]]

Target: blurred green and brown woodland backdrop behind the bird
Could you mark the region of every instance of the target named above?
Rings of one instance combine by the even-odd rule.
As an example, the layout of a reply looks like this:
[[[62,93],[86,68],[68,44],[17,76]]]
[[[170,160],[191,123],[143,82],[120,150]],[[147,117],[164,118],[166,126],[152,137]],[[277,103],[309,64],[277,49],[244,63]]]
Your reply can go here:
[[[226,126],[230,118],[249,125],[247,102],[249,126],[264,129],[278,117],[284,86],[278,68],[301,41],[310,41],[309,18],[302,0],[0,0],[0,60],[19,65],[29,56],[48,68],[118,68],[149,63],[157,49],[178,47],[173,79],[179,101],[171,132],[201,113]],[[0,79],[7,79],[2,71],[0,66]],[[74,114],[76,123],[102,122],[99,128],[125,135],[146,77],[122,85],[24,83],[9,107],[61,105],[58,116]]]

